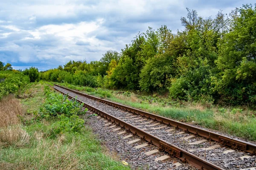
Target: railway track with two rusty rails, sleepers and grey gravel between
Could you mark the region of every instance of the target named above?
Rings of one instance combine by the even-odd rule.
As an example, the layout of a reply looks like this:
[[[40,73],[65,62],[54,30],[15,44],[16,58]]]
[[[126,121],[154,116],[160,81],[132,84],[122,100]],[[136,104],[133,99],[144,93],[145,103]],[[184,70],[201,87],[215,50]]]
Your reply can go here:
[[[59,85],[54,85],[53,88],[68,94],[70,98],[77,98],[91,111],[108,119],[109,122],[105,125],[114,128],[116,132],[122,134],[121,132],[125,133],[123,129],[126,129],[126,132],[140,136],[140,139],[130,143],[145,140],[147,142],[139,145],[140,147],[154,144],[159,151],[168,153],[158,158],[159,160],[176,157],[183,163],[205,170],[243,168],[250,170],[255,164],[256,145],[249,142],[232,139]]]

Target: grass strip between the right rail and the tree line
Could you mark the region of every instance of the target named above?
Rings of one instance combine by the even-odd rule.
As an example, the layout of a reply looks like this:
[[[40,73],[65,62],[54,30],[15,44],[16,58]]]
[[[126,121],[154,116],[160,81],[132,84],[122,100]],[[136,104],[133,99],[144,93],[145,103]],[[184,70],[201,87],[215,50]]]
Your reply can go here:
[[[59,84],[180,122],[200,125],[212,130],[218,130],[223,133],[241,137],[244,140],[256,141],[256,112],[247,107],[223,108],[209,104],[202,105],[200,103],[177,102],[171,99],[161,99],[154,96],[141,96],[130,92],[120,93],[119,91],[94,89],[64,83]],[[110,94],[108,95],[109,97],[102,96],[102,91],[105,91],[106,94]]]

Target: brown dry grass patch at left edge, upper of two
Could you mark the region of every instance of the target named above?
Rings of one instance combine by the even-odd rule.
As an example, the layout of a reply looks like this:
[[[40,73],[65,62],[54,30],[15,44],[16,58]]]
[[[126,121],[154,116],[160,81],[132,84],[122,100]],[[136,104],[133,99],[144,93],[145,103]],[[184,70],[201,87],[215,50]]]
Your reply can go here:
[[[7,127],[20,122],[18,115],[23,116],[20,101],[14,95],[0,100],[0,127]]]

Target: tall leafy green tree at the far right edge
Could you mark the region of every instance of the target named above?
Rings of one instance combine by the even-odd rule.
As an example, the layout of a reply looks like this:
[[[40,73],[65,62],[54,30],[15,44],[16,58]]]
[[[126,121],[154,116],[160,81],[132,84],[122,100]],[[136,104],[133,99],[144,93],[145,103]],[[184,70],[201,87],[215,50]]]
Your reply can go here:
[[[256,104],[256,6],[244,5],[231,16],[230,32],[219,44],[214,90],[233,104]]]

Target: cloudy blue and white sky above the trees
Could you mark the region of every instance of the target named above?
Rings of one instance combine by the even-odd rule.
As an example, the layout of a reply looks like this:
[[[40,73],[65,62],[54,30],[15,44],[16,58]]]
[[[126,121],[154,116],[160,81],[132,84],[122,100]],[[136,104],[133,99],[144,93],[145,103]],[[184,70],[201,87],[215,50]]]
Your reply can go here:
[[[182,29],[186,7],[203,17],[254,0],[0,0],[0,61],[39,70],[69,60],[99,60],[140,31]]]

